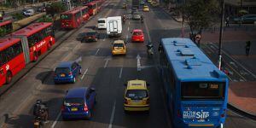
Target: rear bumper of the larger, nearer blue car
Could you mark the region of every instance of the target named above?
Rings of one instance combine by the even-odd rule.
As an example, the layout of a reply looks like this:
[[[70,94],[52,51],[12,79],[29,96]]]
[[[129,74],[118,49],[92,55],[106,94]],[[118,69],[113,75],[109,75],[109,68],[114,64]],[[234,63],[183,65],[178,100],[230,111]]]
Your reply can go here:
[[[61,113],[63,119],[90,119],[90,112],[84,113]]]

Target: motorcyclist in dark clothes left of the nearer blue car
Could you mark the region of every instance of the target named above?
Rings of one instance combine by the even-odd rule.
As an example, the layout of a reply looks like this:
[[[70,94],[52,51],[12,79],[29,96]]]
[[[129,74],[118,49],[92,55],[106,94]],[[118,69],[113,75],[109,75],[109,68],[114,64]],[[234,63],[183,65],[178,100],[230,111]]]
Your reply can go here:
[[[44,122],[47,122],[49,117],[49,112],[48,112],[48,108],[42,102],[42,100],[37,100],[33,108],[33,115],[35,116],[35,118],[40,117],[40,119],[43,119]]]

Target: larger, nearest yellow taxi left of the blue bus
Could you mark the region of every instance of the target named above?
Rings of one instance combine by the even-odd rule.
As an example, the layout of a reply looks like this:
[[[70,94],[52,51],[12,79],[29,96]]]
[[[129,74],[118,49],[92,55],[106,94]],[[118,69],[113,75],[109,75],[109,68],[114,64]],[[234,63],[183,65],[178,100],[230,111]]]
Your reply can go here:
[[[125,112],[130,111],[149,111],[149,94],[146,81],[144,80],[129,80],[125,84]]]

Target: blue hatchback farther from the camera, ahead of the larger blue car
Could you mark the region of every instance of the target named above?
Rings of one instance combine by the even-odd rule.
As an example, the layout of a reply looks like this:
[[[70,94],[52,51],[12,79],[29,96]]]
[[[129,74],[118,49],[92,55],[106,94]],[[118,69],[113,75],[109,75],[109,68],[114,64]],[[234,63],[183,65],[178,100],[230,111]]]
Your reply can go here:
[[[76,77],[81,74],[81,66],[76,61],[61,62],[55,68],[55,84],[75,83]]]

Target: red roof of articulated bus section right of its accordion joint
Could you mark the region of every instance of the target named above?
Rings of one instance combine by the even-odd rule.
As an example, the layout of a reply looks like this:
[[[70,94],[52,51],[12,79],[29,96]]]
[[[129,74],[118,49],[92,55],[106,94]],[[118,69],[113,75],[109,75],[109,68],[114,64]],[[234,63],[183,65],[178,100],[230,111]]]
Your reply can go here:
[[[11,33],[11,35],[25,35],[26,37],[32,35],[35,32],[38,32],[48,26],[51,26],[50,22],[40,22],[40,23],[32,23],[29,26],[26,26],[16,32]]]

